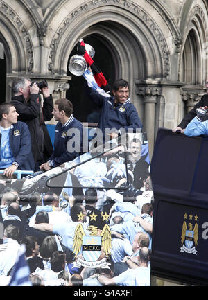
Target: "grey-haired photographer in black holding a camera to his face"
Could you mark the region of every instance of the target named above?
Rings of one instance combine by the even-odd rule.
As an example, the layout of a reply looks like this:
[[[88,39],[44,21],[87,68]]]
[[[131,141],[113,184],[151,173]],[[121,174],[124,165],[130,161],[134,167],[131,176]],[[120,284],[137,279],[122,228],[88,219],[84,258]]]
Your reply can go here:
[[[31,133],[35,171],[53,152],[53,145],[45,121],[53,118],[53,98],[47,82],[31,82],[30,78],[18,77],[12,82],[12,105],[19,114],[18,120],[25,122]],[[40,91],[44,102],[41,105]]]

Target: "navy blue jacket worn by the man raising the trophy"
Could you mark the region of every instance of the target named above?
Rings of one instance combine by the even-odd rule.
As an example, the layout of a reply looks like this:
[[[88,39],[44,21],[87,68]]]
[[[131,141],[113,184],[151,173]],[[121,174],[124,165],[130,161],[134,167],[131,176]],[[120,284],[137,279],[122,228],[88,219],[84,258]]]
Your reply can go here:
[[[132,128],[133,132],[136,132],[137,128],[142,127],[137,110],[130,103],[130,100],[125,101],[124,104],[118,103],[115,105],[114,97],[105,97],[87,85],[86,89],[89,98],[101,108],[98,128],[103,133],[105,132],[105,128],[116,128],[116,130],[124,128],[126,132],[128,128]]]

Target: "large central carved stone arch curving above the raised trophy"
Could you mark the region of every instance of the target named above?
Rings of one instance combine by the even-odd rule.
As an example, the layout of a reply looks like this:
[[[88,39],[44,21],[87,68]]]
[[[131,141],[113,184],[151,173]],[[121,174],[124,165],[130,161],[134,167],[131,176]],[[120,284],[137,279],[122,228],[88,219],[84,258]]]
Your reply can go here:
[[[117,30],[118,44],[120,44],[119,35],[123,35],[125,39],[129,39],[128,46],[126,47],[123,44],[121,48],[126,47],[131,58],[136,57],[139,51],[141,52],[144,64],[143,78],[157,80],[168,78],[171,67],[168,57],[168,47],[155,21],[151,19],[143,8],[135,4],[132,6],[132,3],[128,1],[121,1],[119,4],[117,2],[119,1],[114,1],[114,5],[112,6],[107,5],[107,3],[102,4],[98,3],[98,1],[91,1],[85,4],[85,9],[83,6],[80,6],[64,19],[51,42],[51,62],[49,69],[52,73],[62,73],[63,75],[64,72],[66,73],[67,58],[78,42],[78,39],[86,35],[86,28],[98,26],[98,24],[103,28],[103,25],[107,27],[108,24],[107,30],[114,30],[115,36]],[[122,3],[124,7],[122,7]],[[87,10],[87,14],[85,10]],[[131,48],[131,41],[136,45],[134,47],[134,55],[129,50]],[[56,53],[59,55],[56,55]],[[139,66],[139,64],[142,64],[142,62],[137,60],[137,64],[134,63],[133,65],[135,67],[135,65]],[[128,67],[130,68],[130,66]],[[129,73],[133,75],[134,71]],[[136,78],[138,79],[138,75]]]

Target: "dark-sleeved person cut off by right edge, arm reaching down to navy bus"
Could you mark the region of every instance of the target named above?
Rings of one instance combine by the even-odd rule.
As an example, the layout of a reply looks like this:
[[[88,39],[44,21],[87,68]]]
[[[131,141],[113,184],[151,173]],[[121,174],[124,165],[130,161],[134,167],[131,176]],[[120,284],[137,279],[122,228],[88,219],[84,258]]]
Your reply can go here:
[[[208,77],[205,80],[205,87],[207,89],[207,94],[203,95],[201,100],[198,101],[198,103],[196,103],[196,105],[194,105],[193,109],[191,109],[190,112],[186,116],[184,116],[184,118],[182,119],[180,124],[177,125],[176,128],[172,129],[173,132],[177,131],[177,132],[184,133],[184,130],[187,127],[187,125],[189,124],[189,122],[196,116],[196,114],[197,114],[196,109],[198,109],[200,107],[206,107],[208,105]]]

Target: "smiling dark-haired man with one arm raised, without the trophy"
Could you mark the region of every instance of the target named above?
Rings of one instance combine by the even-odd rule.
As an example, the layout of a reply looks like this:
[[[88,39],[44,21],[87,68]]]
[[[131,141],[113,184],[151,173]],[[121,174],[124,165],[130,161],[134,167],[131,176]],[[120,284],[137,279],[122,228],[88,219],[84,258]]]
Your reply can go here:
[[[128,128],[136,132],[137,128],[142,127],[137,110],[135,106],[130,103],[129,85],[127,81],[123,79],[116,80],[112,89],[113,96],[111,97],[105,94],[104,91],[102,92],[101,89],[96,88],[96,82],[93,82],[89,70],[86,70],[83,76],[87,80],[86,89],[89,98],[101,108],[98,128],[103,132],[103,143],[109,141],[106,136],[106,134],[108,134],[106,129],[112,130],[109,135],[110,138],[113,139],[116,138],[119,133],[127,132]]]

